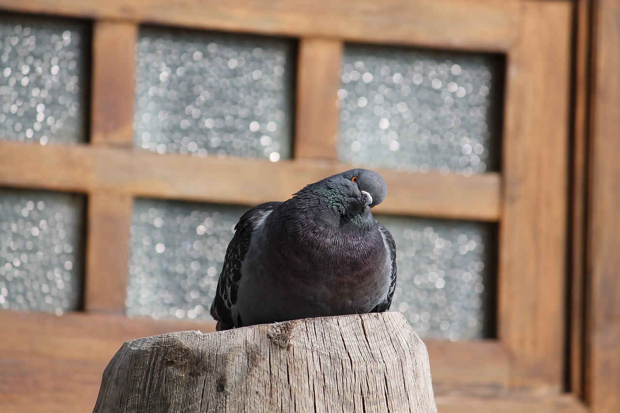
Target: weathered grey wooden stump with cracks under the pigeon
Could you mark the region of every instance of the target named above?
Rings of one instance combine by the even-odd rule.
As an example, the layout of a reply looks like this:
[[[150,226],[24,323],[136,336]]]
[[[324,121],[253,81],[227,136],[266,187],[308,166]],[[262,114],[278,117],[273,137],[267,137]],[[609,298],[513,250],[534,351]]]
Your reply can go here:
[[[126,342],[95,412],[436,412],[426,346],[399,313]]]

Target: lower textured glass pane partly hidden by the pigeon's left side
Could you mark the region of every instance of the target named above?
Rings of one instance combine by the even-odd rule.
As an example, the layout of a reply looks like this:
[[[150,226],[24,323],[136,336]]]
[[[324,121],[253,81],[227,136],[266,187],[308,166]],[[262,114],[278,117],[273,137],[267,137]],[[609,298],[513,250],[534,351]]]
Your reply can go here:
[[[129,316],[211,320],[226,247],[246,207],[136,200],[127,288]]]

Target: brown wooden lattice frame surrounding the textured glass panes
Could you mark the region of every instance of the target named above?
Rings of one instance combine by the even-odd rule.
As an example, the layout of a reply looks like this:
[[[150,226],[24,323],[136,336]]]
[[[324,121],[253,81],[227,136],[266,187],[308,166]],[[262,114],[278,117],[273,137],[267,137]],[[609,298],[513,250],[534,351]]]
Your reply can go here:
[[[336,154],[338,71],[343,44],[361,42],[507,56],[501,172],[463,177],[378,169],[390,189],[381,213],[499,224],[498,337],[426,340],[438,407],[587,411],[563,393],[572,2],[273,0],[265,7],[241,0],[0,0],[0,9],[94,20],[90,143],[0,141],[1,186],[88,196],[84,311],[0,312],[10,337],[0,340],[3,407],[91,409],[102,366],[123,341],[213,331],[212,322],[125,318],[133,199],[255,205],[347,169]],[[133,149],[139,24],[298,38],[294,158],[273,163]],[[217,175],[229,179],[205,178]],[[247,176],[254,177],[250,184]]]

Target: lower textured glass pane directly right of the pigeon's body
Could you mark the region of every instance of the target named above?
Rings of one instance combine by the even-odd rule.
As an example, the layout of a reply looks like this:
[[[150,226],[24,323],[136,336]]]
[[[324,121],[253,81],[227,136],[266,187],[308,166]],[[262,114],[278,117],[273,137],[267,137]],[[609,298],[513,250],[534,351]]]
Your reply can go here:
[[[420,337],[449,340],[495,332],[492,224],[379,216],[394,236],[398,281],[392,311]]]

